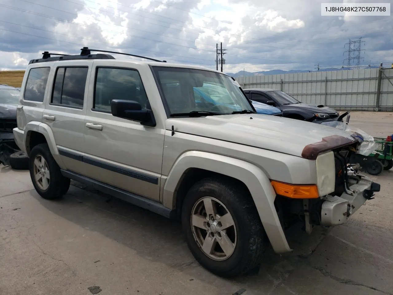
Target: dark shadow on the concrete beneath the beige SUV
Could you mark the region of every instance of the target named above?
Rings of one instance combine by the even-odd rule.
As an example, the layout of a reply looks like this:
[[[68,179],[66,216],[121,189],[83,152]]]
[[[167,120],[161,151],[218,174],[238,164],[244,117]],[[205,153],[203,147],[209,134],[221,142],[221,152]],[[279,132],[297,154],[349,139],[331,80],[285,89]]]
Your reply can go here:
[[[227,280],[212,275],[196,262],[185,243],[178,221],[75,182],[72,182],[68,193],[59,201],[42,199],[35,190],[31,191],[31,195],[54,214],[121,243],[142,258],[163,263],[206,283],[234,282],[247,286],[248,289],[258,286],[255,289],[258,293],[268,293],[277,281],[288,277],[296,268],[298,258],[311,255],[327,234],[327,230],[316,228],[312,235],[308,235],[301,231],[301,224],[296,225],[286,232],[288,242],[294,249],[292,253],[275,254],[268,247],[259,271]]]

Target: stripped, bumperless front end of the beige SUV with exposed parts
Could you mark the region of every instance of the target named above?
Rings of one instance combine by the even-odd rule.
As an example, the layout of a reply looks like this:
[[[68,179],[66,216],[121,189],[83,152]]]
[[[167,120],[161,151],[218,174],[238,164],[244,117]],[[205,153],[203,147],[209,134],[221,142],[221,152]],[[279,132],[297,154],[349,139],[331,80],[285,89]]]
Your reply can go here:
[[[334,142],[334,136],[331,137],[332,140],[325,139],[309,145],[310,154],[315,153],[313,156],[316,157],[318,148],[323,145],[328,147],[327,145]],[[337,136],[337,140],[340,137]],[[362,141],[356,138],[356,135],[347,138],[347,143],[345,137],[340,140],[342,144],[329,148],[334,153],[334,192],[314,199],[297,200],[277,195],[276,209],[284,228],[301,221],[304,230],[310,234],[315,225],[340,225],[367,200],[373,199],[375,192],[379,192],[380,185],[369,177],[360,175],[360,165],[351,162],[353,155],[359,153]]]

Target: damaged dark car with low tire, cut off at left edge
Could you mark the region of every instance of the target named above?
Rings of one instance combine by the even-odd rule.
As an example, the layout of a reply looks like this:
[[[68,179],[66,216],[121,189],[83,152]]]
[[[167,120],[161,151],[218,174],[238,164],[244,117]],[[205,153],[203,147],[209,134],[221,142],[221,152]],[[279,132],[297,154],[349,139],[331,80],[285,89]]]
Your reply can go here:
[[[28,157],[20,151],[13,133],[13,129],[17,127],[19,97],[20,90],[0,84],[0,164],[24,169],[28,164]]]

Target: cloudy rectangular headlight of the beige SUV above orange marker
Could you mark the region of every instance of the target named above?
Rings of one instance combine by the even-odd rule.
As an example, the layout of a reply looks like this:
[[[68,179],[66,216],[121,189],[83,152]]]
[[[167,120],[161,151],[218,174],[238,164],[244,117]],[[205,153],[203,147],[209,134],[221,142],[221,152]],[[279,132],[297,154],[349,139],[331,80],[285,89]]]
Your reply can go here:
[[[336,167],[333,151],[318,155],[315,162],[318,193],[320,197],[331,194],[336,186]]]

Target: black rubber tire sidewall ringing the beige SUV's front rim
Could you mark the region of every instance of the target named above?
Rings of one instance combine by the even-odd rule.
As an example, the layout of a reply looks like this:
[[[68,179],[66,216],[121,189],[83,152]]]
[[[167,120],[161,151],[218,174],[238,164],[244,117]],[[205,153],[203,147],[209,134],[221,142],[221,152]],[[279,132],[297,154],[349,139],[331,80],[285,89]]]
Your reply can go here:
[[[241,218],[242,213],[239,210],[239,204],[236,203],[232,197],[233,192],[224,190],[220,184],[217,183],[201,183],[195,184],[187,193],[183,208],[182,208],[182,227],[186,236],[186,242],[191,253],[195,259],[206,269],[217,275],[224,275],[229,270],[235,270],[242,261],[245,259],[245,255],[248,253],[248,247],[250,245],[250,225],[246,221],[247,218]],[[217,261],[209,258],[201,249],[198,247],[198,243],[195,241],[192,227],[191,227],[191,211],[195,203],[202,197],[214,197],[224,204],[231,214],[235,223],[237,232],[237,243],[235,251],[232,255],[222,261]],[[241,230],[240,230],[241,229]]]

